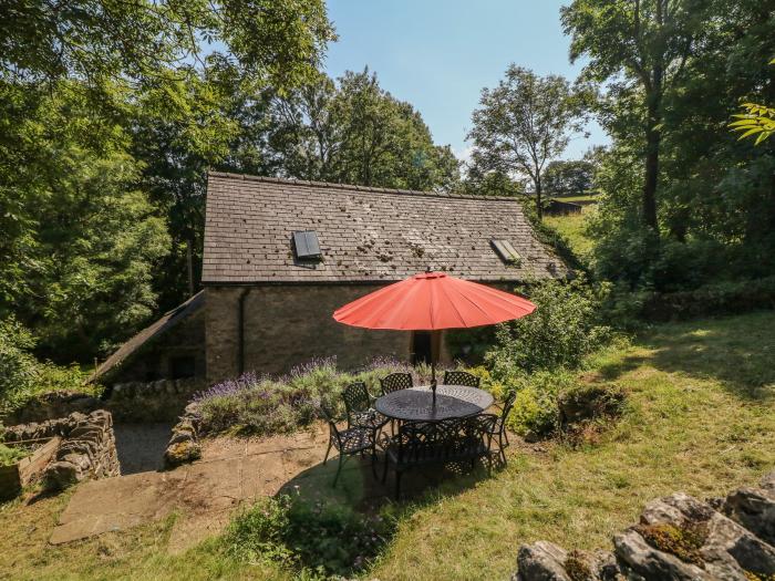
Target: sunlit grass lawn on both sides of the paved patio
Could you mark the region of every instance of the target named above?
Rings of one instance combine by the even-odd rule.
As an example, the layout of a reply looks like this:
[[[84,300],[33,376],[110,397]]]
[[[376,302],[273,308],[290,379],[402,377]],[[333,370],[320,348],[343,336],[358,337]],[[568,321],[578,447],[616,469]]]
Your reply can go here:
[[[520,543],[610,547],[651,498],[717,496],[775,467],[775,312],[664,324],[607,352],[580,377],[614,382],[628,408],[601,440],[513,448],[490,479],[457,480],[405,507],[365,575],[382,580],[506,579]],[[237,563],[208,541],[165,553],[172,520],[64,547],[46,539],[66,495],[0,505],[0,578],[287,579]]]

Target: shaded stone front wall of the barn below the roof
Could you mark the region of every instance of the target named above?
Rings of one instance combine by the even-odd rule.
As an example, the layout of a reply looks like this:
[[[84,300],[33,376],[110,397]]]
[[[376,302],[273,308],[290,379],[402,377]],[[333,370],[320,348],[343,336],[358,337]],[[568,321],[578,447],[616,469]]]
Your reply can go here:
[[[245,295],[245,371],[281,374],[313,357],[335,355],[342,369],[375,356],[409,357],[411,333],[369,331],[337,323],[339,307],[375,286],[208,287],[207,378],[239,374],[239,297]]]

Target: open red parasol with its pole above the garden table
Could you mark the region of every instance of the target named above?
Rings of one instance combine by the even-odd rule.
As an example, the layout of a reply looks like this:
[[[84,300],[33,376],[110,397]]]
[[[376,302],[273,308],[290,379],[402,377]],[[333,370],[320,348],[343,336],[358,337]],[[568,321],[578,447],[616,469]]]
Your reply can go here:
[[[441,331],[502,323],[535,310],[535,304],[516,294],[443,272],[425,272],[361,297],[338,309],[333,318],[365,329]],[[432,345],[438,342],[438,334],[434,335]],[[431,386],[435,401],[437,347],[433,351]]]

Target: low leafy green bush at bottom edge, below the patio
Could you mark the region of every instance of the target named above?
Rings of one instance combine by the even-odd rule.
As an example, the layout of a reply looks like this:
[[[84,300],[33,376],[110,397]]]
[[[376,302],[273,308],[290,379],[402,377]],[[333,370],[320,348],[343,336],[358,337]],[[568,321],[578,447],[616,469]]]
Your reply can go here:
[[[362,570],[392,528],[391,519],[363,516],[347,506],[280,496],[239,515],[224,542],[237,559],[279,561],[301,578],[320,579]]]

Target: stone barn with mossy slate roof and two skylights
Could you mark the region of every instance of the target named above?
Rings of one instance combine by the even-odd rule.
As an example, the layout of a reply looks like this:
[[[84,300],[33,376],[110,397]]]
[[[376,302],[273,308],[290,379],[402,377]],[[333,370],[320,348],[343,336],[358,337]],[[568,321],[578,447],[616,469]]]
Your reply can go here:
[[[428,269],[506,289],[568,276],[512,197],[213,172],[204,290],[195,308],[189,301],[174,325],[167,321],[167,333],[156,323],[153,347],[141,332],[128,342],[131,352],[122,347],[124,363],[113,357],[112,367],[115,377],[153,369],[215,382],[250,370],[279,374],[331,355],[342,369],[376,356],[427,360],[426,333],[353,329],[331,315],[380,286]]]

